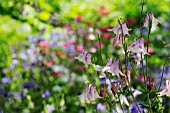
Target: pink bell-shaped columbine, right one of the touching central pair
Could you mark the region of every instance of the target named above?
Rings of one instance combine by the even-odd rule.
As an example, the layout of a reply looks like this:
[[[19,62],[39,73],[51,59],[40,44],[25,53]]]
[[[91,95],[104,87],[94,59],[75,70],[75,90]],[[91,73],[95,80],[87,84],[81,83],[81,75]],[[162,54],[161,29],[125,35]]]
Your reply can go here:
[[[112,73],[113,75],[122,75],[125,76],[119,69],[119,60],[115,59],[113,64],[111,65],[110,69],[108,70],[108,72]]]

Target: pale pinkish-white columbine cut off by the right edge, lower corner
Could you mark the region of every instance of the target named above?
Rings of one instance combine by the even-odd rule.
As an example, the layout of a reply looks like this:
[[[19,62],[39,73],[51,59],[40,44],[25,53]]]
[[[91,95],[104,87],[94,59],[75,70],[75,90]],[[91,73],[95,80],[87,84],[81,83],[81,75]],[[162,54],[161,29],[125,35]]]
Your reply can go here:
[[[170,80],[166,80],[165,88],[158,94],[159,94],[159,96],[164,96],[164,95],[170,96]]]

